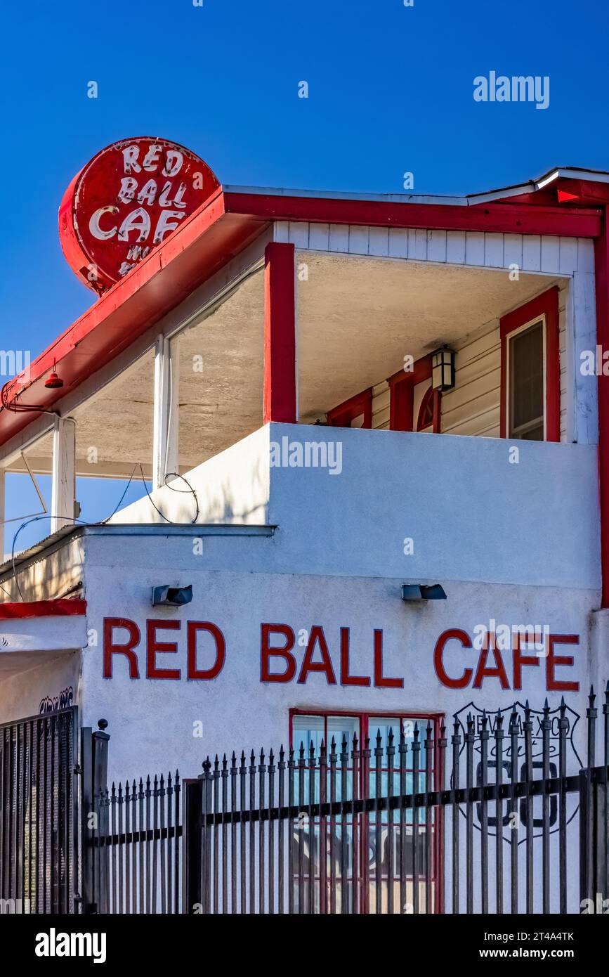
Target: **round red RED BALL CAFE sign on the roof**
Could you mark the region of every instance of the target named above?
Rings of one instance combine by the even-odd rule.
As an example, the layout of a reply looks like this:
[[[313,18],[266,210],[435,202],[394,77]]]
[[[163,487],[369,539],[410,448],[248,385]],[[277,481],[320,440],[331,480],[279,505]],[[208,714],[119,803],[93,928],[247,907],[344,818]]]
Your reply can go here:
[[[176,231],[220,186],[183,146],[125,139],[102,149],[63,194],[63,254],[82,281],[109,288]]]

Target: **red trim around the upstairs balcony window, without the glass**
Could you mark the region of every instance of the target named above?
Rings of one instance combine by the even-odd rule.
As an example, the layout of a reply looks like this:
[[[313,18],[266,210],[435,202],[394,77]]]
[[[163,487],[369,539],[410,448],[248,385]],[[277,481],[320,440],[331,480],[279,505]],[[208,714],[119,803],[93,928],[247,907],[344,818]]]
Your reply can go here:
[[[546,317],[546,441],[560,441],[560,354],[558,350],[558,286],[519,306],[499,322],[501,336],[500,435],[507,438],[507,336],[526,322]]]

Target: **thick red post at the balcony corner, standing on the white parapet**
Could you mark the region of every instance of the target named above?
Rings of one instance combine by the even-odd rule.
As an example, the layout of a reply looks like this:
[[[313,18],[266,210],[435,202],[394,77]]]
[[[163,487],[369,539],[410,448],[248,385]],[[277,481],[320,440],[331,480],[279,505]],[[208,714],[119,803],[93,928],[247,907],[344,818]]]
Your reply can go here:
[[[296,424],[296,265],[294,244],[264,250],[264,424]]]

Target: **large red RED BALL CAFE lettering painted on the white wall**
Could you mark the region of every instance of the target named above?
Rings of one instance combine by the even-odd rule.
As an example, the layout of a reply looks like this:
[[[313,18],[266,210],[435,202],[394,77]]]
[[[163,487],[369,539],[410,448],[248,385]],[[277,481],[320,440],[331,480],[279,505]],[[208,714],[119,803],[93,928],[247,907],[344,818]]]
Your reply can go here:
[[[142,650],[142,663],[145,659],[145,678],[152,680],[177,681],[184,677],[183,668],[176,667],[182,660],[178,635],[175,640],[163,632],[182,630],[183,622],[172,618],[150,618],[145,623],[145,652]],[[117,631],[126,632],[122,635]],[[341,627],[338,636],[338,650],[333,647],[320,624],[314,624],[307,632],[306,646],[302,661],[297,659],[294,628],[283,623],[262,623],[260,625],[260,680],[264,683],[287,684],[296,682],[304,685],[310,674],[325,677],[327,685],[359,686],[377,689],[403,689],[401,676],[386,674],[384,662],[384,635],[381,628],[375,628],[371,642],[370,672],[367,675],[354,674],[350,665],[350,632]],[[226,657],[226,643],[223,632],[212,621],[187,620],[185,678],[190,681],[209,681],[216,678]],[[207,668],[198,667],[197,654],[199,634],[207,635],[205,650],[213,653],[213,661]],[[114,677],[115,658],[125,659],[119,672],[131,679],[141,677],[141,658],[138,649],[142,634],[138,624],[128,617],[105,617],[103,620],[103,677]],[[480,651],[473,648],[467,631],[449,628],[440,634],[435,643],[432,662],[440,685],[446,689],[459,690],[471,686],[482,689],[485,685],[495,689],[522,689],[523,676],[529,669],[544,671],[548,692],[578,692],[580,683],[568,680],[563,669],[572,668],[575,658],[560,655],[560,645],[579,645],[577,634],[549,634],[548,651],[544,654],[524,654],[520,647],[520,637],[516,635],[510,651],[497,646],[495,636],[490,634]],[[334,658],[333,658],[334,655]],[[511,655],[511,660],[509,660]],[[166,656],[178,656],[168,661]],[[463,658],[463,660],[462,660]],[[172,665],[170,667],[169,665]]]

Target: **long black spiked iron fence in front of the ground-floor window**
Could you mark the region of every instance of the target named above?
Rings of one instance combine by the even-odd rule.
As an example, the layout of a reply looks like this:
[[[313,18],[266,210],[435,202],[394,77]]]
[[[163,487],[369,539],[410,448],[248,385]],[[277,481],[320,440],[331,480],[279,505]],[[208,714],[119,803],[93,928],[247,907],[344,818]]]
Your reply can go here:
[[[593,691],[584,731],[564,701],[467,708],[450,743],[441,723],[400,723],[372,742],[232,753],[193,780],[109,790],[102,728],[83,748],[83,813],[97,814],[83,823],[85,912],[597,911],[609,686],[602,766]]]

